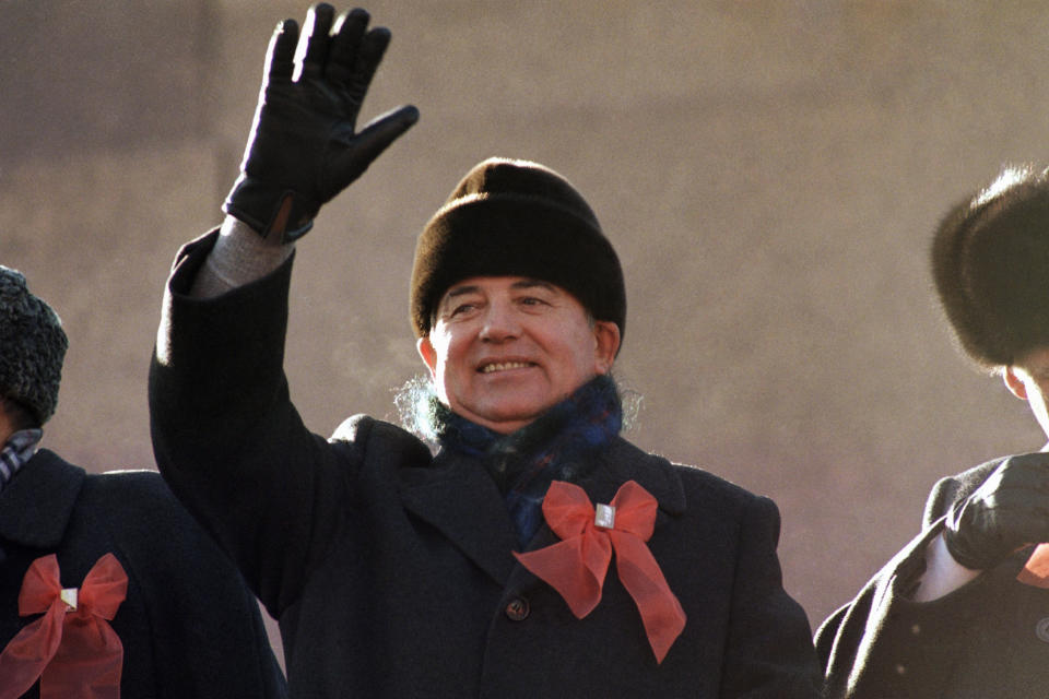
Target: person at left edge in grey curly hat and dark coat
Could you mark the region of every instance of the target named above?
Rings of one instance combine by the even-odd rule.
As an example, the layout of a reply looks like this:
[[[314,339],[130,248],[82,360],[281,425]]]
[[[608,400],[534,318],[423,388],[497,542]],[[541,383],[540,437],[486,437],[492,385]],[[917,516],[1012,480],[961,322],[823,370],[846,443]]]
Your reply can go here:
[[[0,265],[0,697],[286,696],[255,599],[160,475],[39,447],[68,345]]]

